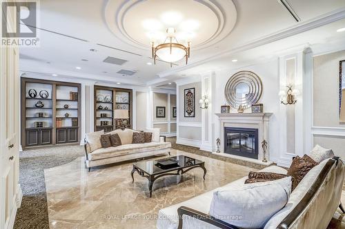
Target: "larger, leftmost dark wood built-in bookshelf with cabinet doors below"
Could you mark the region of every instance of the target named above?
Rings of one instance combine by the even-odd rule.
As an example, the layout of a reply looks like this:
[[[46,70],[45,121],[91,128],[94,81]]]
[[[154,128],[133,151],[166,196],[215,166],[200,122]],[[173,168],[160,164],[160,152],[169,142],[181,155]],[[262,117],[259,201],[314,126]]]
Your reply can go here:
[[[30,89],[36,91],[36,97],[30,97]],[[39,91],[43,90],[48,92],[47,98],[39,96]],[[79,143],[80,92],[79,83],[21,78],[22,148]],[[44,107],[35,107],[39,101]],[[64,108],[64,105],[68,105],[68,108]],[[43,113],[43,116],[39,116],[39,113]]]

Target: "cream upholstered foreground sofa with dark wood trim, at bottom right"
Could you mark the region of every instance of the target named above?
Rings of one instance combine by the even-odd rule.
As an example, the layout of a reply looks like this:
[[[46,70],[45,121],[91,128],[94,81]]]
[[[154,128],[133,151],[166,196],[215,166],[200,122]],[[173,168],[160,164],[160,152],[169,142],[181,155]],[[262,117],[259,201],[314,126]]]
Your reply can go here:
[[[312,168],[290,194],[286,206],[268,219],[264,228],[327,228],[337,207],[342,209],[339,203],[344,170],[345,166],[339,157],[324,160]],[[287,172],[279,166],[269,166],[262,171],[282,174]],[[248,177],[215,190],[238,188],[244,185],[246,178]],[[157,228],[237,228],[208,215],[215,190],[159,210]],[[236,215],[236,212],[233,214]]]

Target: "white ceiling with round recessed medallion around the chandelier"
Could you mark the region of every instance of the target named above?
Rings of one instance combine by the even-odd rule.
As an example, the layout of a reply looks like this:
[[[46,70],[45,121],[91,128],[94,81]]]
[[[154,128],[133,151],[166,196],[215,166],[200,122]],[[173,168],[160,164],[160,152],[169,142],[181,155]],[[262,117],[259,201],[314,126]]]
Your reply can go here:
[[[345,27],[344,0],[40,2],[40,47],[21,48],[21,71],[134,85],[166,85],[229,65],[234,54],[239,63],[270,56],[270,45],[277,53],[336,39],[343,34],[334,29]],[[180,42],[191,41],[188,65],[152,64],[150,42],[164,39],[168,27]]]

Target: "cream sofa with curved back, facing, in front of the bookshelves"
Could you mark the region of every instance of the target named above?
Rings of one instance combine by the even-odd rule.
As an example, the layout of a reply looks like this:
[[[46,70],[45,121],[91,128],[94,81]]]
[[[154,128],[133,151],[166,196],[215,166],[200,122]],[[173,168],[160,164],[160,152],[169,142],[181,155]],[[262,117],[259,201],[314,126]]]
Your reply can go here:
[[[94,166],[104,164],[112,164],[116,162],[124,162],[126,160],[134,160],[142,157],[150,157],[155,155],[170,154],[171,143],[165,142],[164,137],[159,134],[159,129],[146,129],[146,132],[152,132],[152,142],[132,144],[132,129],[117,129],[108,134],[119,135],[121,145],[116,147],[101,148],[99,138],[104,134],[103,131],[97,131],[86,134],[85,140],[85,164],[89,169]]]

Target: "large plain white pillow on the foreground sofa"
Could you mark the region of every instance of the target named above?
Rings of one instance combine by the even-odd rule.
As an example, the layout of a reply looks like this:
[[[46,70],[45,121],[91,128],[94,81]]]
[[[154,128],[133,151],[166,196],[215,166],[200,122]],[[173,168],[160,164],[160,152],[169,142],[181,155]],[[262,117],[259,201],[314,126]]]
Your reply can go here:
[[[291,177],[273,182],[224,187],[213,193],[210,215],[239,228],[264,228],[284,208],[291,193]]]

